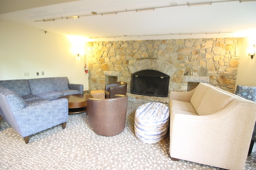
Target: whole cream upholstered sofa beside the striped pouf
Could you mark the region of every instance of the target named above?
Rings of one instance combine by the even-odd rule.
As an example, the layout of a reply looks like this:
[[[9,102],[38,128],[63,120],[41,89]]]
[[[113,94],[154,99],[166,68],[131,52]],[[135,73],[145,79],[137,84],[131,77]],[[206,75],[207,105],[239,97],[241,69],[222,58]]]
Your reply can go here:
[[[256,103],[210,84],[170,92],[170,156],[230,170],[243,170]]]

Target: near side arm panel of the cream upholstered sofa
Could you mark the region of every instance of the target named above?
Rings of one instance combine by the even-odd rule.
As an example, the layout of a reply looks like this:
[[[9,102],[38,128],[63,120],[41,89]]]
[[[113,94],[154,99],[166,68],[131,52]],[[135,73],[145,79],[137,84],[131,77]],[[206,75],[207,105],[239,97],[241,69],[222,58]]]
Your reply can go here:
[[[256,120],[255,110],[256,104],[236,99],[211,115],[171,113],[170,156],[243,169]]]

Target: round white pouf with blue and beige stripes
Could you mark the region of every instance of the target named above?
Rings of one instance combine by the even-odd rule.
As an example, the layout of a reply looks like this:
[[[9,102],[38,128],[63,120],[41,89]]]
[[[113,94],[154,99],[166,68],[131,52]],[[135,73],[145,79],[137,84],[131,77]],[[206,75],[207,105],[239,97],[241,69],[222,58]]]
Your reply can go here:
[[[169,107],[158,102],[138,107],[134,117],[134,131],[143,143],[158,143],[164,139],[170,124]]]

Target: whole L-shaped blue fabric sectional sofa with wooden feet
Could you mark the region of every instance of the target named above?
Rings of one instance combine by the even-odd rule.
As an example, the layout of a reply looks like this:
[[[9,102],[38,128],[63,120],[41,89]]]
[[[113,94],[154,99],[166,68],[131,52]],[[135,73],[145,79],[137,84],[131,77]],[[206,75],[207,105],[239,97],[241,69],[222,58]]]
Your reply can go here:
[[[0,80],[0,115],[29,142],[29,136],[68,120],[68,100],[82,94],[82,84],[70,84],[67,77],[28,80]]]

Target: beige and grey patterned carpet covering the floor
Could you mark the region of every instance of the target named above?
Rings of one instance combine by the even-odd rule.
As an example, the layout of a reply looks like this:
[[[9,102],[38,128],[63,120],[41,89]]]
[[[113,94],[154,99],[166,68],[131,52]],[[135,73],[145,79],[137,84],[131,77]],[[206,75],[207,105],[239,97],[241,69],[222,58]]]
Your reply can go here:
[[[114,137],[96,135],[86,113],[68,116],[61,125],[30,137],[27,145],[0,118],[1,170],[218,170],[220,168],[180,160],[169,155],[169,137],[155,144],[140,142],[134,135],[134,113],[140,103],[128,102],[126,128]],[[256,170],[256,147],[245,170]]]

